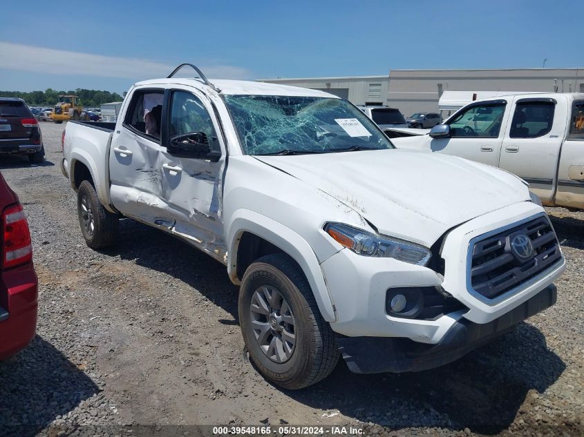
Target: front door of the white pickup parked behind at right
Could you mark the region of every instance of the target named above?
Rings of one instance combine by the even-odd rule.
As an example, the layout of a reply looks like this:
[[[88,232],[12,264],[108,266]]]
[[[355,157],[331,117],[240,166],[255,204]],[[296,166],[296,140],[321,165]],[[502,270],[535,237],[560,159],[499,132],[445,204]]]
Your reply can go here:
[[[446,122],[451,136],[431,139],[430,148],[433,152],[498,167],[508,118],[509,108],[505,100],[470,104]]]

